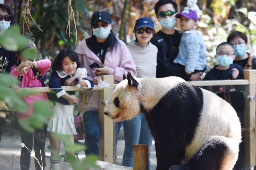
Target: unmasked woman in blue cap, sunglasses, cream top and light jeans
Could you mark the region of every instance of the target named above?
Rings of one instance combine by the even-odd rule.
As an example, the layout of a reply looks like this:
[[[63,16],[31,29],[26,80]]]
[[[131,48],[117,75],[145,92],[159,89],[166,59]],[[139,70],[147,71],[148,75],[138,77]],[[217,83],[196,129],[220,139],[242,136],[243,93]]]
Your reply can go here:
[[[128,44],[133,60],[136,64],[138,78],[156,78],[157,47],[150,43],[155,34],[153,22],[146,18],[136,20],[134,27],[136,40]],[[148,145],[148,169],[150,169],[150,150],[153,137],[144,114],[123,121],[125,136],[125,151],[123,166],[132,167],[133,145]]]

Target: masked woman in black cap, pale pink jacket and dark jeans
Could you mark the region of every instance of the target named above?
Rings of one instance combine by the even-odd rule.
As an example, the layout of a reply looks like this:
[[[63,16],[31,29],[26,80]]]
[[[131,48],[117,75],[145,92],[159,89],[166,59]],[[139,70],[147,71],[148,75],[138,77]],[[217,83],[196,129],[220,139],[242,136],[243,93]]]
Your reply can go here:
[[[75,52],[82,67],[87,69],[87,79],[98,85],[105,74],[114,75],[114,83],[123,80],[123,74],[131,72],[136,77],[136,66],[125,43],[115,37],[110,15],[97,11],[91,17],[93,35],[84,38]],[[82,111],[83,95],[79,96],[78,107]],[[84,104],[85,154],[99,154],[99,110],[97,91],[87,91]],[[118,122],[116,135],[121,123]]]

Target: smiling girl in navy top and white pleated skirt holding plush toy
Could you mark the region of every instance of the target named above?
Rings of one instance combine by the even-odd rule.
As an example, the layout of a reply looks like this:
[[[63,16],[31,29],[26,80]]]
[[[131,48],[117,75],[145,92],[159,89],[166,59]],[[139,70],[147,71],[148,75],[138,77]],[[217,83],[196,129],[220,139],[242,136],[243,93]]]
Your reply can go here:
[[[73,117],[73,104],[78,102],[74,92],[67,93],[61,88],[61,86],[69,86],[73,82],[75,84],[79,83],[81,87],[93,87],[93,82],[87,79],[79,80],[73,77],[76,68],[80,67],[80,62],[77,54],[71,49],[62,49],[54,60],[52,67],[52,74],[49,80],[49,87],[55,88],[53,91],[55,94],[51,93],[48,95],[49,99],[55,101],[55,106],[53,107],[54,116],[51,117],[50,123],[48,125],[47,131],[50,133],[49,140],[51,144],[51,168],[59,170],[60,160],[53,156],[53,151],[59,153],[60,145],[59,139],[51,136],[51,133],[58,133],[62,135],[70,135],[70,141],[74,143],[74,136],[76,134],[74,126]],[[65,144],[65,143],[64,143]],[[64,169],[72,169],[68,163],[66,157],[68,155],[74,155],[74,152],[66,151],[64,157]]]

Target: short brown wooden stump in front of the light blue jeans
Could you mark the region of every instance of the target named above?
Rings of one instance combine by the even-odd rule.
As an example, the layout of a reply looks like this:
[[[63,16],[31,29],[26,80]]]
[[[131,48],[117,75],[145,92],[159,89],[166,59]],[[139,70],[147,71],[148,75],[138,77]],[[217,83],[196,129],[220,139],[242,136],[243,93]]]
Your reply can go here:
[[[133,170],[148,170],[147,145],[133,145]]]

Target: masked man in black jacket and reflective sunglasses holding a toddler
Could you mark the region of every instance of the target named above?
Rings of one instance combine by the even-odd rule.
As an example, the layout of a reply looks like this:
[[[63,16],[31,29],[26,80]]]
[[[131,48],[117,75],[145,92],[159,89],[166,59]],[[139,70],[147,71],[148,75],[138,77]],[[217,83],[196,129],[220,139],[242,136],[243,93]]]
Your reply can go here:
[[[182,32],[175,30],[177,4],[173,0],[159,0],[155,4],[155,13],[162,29],[152,38],[151,43],[158,48],[156,77],[171,76],[175,69],[173,60],[179,53]],[[190,80],[197,81],[202,73],[191,74]]]

